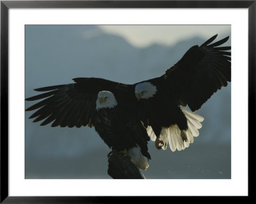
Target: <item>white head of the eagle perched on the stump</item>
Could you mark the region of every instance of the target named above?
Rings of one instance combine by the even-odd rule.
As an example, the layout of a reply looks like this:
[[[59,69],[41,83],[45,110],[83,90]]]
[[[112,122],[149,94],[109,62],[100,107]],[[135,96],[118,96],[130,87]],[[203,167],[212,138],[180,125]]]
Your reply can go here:
[[[107,107],[113,108],[117,105],[114,94],[110,91],[100,91],[96,100],[96,110]]]

